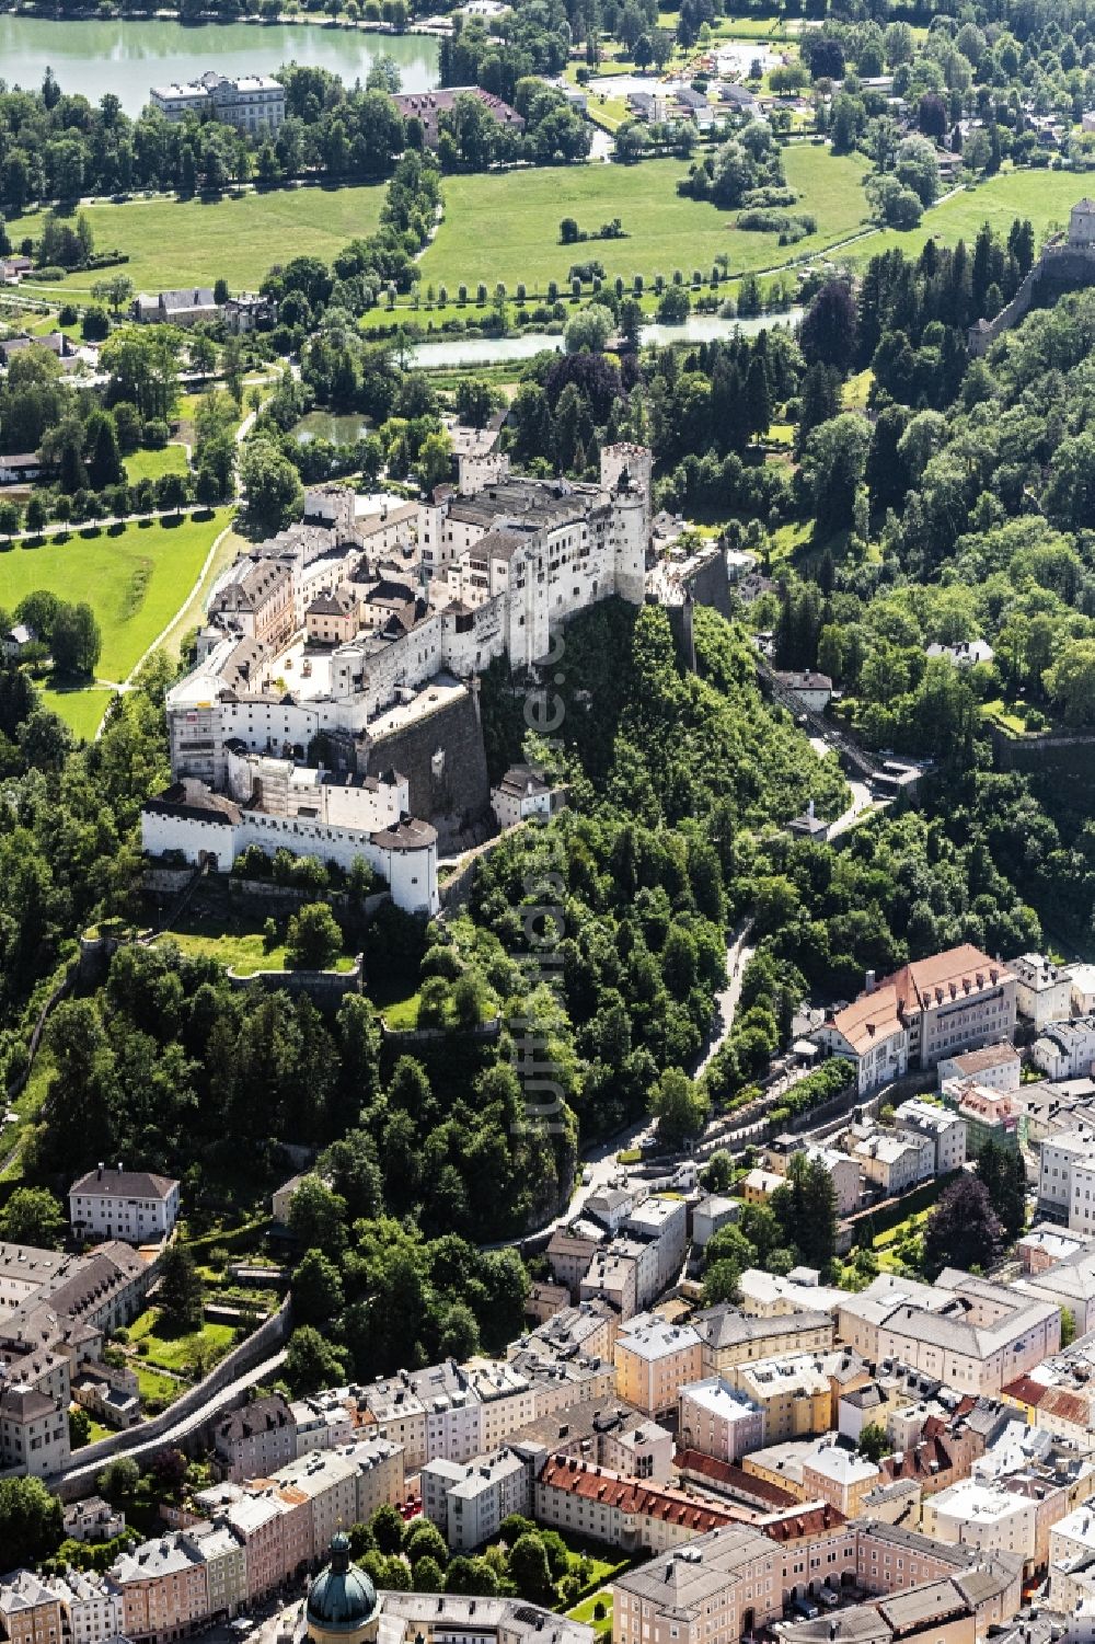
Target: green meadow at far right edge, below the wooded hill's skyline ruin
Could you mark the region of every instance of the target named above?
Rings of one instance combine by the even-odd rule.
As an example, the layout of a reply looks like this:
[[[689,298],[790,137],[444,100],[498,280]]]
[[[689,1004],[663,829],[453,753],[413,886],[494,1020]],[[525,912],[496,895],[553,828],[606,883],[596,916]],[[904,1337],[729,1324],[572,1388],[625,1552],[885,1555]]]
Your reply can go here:
[[[916,256],[931,237],[954,245],[977,238],[983,222],[1006,237],[1016,217],[1029,217],[1036,237],[1069,225],[1069,212],[1083,197],[1083,178],[1074,171],[1001,171],[1000,176],[963,189],[924,214],[919,229],[898,233],[896,229],[868,233],[848,247],[848,256],[863,263],[868,256],[899,247]]]

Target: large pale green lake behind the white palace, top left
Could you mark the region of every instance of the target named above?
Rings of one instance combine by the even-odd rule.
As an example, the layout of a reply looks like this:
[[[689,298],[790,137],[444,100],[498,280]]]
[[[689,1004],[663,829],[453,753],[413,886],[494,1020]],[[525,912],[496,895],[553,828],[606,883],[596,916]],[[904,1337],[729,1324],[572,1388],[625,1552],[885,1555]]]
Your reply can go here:
[[[99,102],[112,90],[128,115],[148,102],[150,85],[220,74],[271,74],[283,62],[306,62],[365,79],[381,54],[393,58],[404,92],[437,85],[437,41],[427,35],[378,35],[322,23],[201,23],[43,16],[0,16],[0,76],[8,87],[38,90],[46,66],[62,92]]]

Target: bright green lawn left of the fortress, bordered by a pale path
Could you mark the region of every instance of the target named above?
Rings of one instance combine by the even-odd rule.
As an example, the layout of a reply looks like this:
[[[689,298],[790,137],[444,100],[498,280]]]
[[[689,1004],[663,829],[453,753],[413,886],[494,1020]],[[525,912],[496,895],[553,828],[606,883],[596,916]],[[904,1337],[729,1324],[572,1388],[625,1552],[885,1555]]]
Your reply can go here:
[[[10,610],[35,589],[87,600],[102,628],[99,677],[122,681],[189,598],[227,523],[229,510],[220,508],[204,520],[133,521],[117,533],[74,529],[64,543],[46,538],[38,547],[10,547],[0,552],[0,605]],[[84,710],[72,700],[69,723],[74,712]]]

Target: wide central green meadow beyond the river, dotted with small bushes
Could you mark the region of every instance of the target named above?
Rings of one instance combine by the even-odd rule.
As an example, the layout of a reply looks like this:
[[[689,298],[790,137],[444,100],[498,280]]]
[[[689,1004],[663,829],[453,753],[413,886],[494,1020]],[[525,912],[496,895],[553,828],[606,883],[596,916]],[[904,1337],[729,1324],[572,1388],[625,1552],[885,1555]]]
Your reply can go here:
[[[797,143],[786,150],[784,166],[802,209],[819,224],[817,233],[794,247],[781,247],[774,233],[735,229],[733,212],[682,199],[676,184],[687,164],[681,159],[447,178],[446,220],[423,256],[423,289],[444,284],[452,301],[457,286],[467,284],[474,294],[482,279],[492,291],[503,281],[511,296],[518,283],[529,294],[543,293],[549,279],[562,286],[571,265],[587,258],[603,263],[610,279],[636,273],[648,281],[656,273],[669,278],[674,268],[707,275],[722,252],[732,273],[761,271],[857,232],[865,215],[862,156],[834,156]],[[561,245],[562,217],[575,217],[582,229],[620,217],[626,238]],[[490,233],[483,224],[490,224]]]

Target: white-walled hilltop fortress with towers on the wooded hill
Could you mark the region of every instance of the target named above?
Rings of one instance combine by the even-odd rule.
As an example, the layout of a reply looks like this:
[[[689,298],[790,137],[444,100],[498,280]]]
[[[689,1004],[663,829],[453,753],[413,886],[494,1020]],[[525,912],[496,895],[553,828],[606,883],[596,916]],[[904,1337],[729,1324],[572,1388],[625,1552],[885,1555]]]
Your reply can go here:
[[[311,490],[222,575],[168,692],[173,786],[145,807],[146,852],[360,855],[400,906],[437,911],[437,829],[487,807],[477,676],[533,666],[597,600],[646,597],[648,449],[607,446],[594,485],[511,475],[493,446],[467,439],[459,485],[424,503]]]

